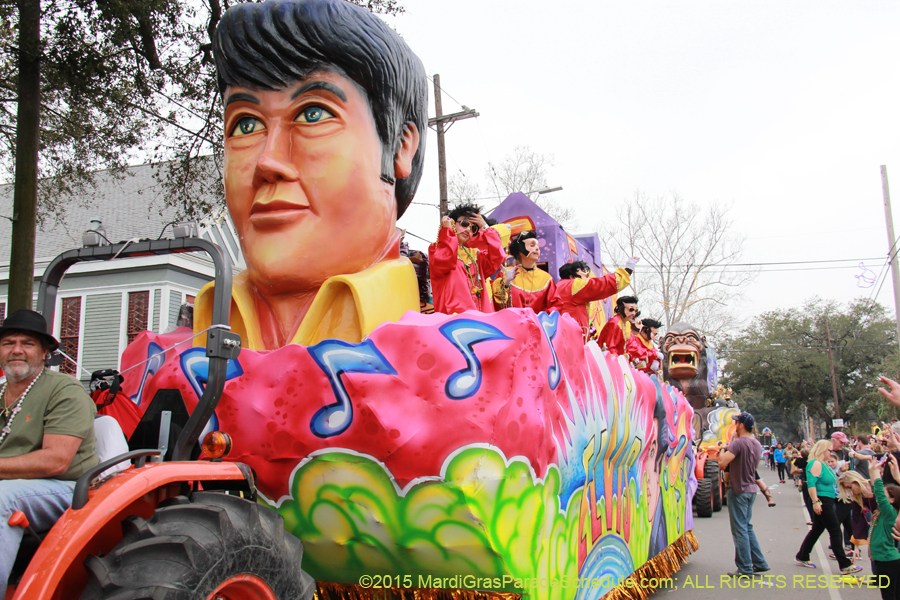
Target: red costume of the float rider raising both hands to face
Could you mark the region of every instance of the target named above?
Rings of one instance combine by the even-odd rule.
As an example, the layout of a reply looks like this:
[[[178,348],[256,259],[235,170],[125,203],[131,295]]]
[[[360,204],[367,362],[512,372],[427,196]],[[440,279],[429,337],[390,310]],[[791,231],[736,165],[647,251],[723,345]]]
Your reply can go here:
[[[438,241],[428,247],[434,311],[448,315],[467,310],[494,312],[487,278],[505,259],[496,229],[479,231],[466,247],[459,245],[453,229],[441,227]]]

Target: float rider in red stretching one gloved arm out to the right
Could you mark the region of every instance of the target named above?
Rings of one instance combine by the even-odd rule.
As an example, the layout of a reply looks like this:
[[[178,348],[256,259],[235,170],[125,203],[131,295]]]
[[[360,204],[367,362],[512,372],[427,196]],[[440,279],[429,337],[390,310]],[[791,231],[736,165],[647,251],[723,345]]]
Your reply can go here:
[[[563,265],[559,269],[560,280],[556,284],[552,308],[575,319],[587,339],[590,331],[588,303],[609,298],[625,289],[631,283],[631,273],[637,261],[635,257],[629,258],[625,268],[602,277],[591,277],[591,269],[584,261]]]

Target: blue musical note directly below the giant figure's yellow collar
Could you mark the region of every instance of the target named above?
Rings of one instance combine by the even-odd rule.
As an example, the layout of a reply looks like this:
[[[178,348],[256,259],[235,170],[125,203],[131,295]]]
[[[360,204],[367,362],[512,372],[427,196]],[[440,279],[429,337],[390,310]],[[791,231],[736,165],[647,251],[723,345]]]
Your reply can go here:
[[[344,373],[381,373],[396,375],[397,371],[387,361],[372,340],[350,344],[341,340],[325,340],[309,348],[309,354],[328,377],[331,391],[337,402],[316,411],[309,427],[313,434],[327,438],[343,433],[353,422],[353,404],[344,387]]]

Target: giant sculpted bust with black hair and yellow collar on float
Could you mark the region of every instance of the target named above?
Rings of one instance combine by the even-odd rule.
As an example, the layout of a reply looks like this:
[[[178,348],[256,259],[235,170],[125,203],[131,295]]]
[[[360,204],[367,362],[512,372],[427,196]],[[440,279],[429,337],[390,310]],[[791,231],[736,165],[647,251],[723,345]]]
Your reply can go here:
[[[247,262],[231,305],[244,348],[356,343],[418,312],[395,224],[422,175],[421,61],[344,0],[237,4],[213,52],[225,199]],[[197,296],[195,331],[211,324],[212,298],[212,284]]]

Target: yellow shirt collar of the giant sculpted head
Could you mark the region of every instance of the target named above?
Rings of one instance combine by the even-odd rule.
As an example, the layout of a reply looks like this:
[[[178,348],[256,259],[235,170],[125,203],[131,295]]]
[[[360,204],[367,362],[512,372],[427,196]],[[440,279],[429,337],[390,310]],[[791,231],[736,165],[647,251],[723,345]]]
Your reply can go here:
[[[211,323],[214,287],[210,282],[197,294],[195,333]],[[397,321],[409,310],[419,311],[419,287],[412,263],[405,257],[385,260],[365,271],[325,280],[290,343],[312,346],[330,338],[359,343],[378,325]],[[247,271],[234,277],[231,328],[241,336],[244,348],[273,349],[263,345],[253,285]],[[198,336],[194,344],[206,345],[206,336]]]

